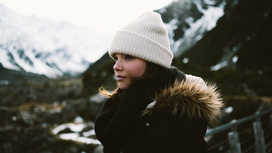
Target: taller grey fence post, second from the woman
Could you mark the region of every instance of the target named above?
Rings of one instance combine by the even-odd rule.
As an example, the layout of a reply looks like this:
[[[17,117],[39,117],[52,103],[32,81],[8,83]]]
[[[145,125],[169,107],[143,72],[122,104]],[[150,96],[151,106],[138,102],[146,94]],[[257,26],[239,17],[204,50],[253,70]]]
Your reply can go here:
[[[264,131],[261,128],[261,123],[258,121],[253,122],[253,129],[255,135],[255,152],[265,153],[265,143],[264,143]]]

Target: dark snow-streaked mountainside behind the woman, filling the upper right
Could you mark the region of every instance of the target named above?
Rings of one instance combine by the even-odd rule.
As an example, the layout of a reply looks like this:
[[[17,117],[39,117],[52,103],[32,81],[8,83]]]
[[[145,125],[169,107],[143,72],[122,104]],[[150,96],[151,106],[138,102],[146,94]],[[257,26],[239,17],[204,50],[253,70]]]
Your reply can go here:
[[[223,94],[268,96],[271,8],[270,0],[175,0],[155,12],[168,28],[173,66],[216,81]],[[85,91],[101,84],[114,88],[113,65],[106,53],[90,66],[83,74]]]

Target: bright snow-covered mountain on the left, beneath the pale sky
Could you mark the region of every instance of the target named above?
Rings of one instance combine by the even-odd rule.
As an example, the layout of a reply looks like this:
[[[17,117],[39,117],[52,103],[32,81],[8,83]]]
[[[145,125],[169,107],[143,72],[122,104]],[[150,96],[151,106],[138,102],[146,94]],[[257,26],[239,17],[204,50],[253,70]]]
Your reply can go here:
[[[17,71],[57,77],[86,70],[110,40],[66,21],[24,17],[0,4],[0,63]]]

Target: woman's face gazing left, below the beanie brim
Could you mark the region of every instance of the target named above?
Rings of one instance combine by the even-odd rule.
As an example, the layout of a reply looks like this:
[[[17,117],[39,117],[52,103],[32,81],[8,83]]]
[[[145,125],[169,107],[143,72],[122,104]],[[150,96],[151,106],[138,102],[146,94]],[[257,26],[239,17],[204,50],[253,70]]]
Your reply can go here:
[[[144,60],[120,53],[114,54],[113,57],[116,62],[113,69],[120,89],[126,90],[133,83],[131,77],[140,78],[144,75],[146,70]]]

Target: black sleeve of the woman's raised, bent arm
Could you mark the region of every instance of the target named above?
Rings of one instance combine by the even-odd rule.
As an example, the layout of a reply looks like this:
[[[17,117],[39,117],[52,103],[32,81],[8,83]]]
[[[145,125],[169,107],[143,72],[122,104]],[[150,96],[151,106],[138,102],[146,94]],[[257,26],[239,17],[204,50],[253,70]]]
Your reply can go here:
[[[135,130],[139,112],[152,102],[148,96],[126,93],[118,105],[111,99],[105,101],[95,121],[95,134],[105,150],[120,150],[122,144]],[[143,102],[145,101],[145,102]],[[149,103],[150,103],[149,102]]]

